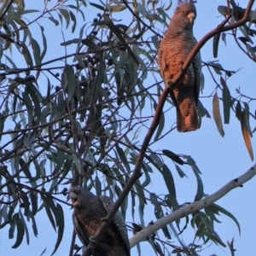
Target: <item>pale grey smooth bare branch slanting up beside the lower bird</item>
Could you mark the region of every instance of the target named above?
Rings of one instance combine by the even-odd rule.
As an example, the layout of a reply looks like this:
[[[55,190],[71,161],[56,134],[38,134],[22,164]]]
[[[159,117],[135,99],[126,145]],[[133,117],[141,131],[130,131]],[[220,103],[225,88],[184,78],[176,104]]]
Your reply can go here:
[[[194,201],[186,207],[180,208],[175,212],[172,212],[169,215],[166,215],[163,218],[157,220],[154,224],[148,224],[146,228],[138,232],[135,236],[130,239],[131,247],[134,247],[140,241],[145,241],[145,239],[153,234],[155,231],[162,229],[167,224],[176,221],[177,219],[188,216],[193,212],[198,212],[205,207],[209,207],[213,202],[218,201],[224,195],[227,195],[232,189],[236,189],[238,187],[242,187],[243,183],[246,183],[248,180],[253,178],[256,175],[256,164],[251,167],[247,172],[245,172],[240,177],[237,177],[234,180],[231,180],[229,183],[225,184],[223,188],[218,189],[217,192],[212,195],[207,196],[201,201]]]

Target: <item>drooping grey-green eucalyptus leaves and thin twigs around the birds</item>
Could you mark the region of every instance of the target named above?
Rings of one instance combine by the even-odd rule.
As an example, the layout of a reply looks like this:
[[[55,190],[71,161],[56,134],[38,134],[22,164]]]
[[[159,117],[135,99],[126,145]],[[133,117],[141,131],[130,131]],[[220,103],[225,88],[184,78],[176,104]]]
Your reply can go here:
[[[233,1],[230,3],[236,8]],[[0,228],[9,229],[10,239],[16,237],[14,248],[24,239],[29,243],[29,221],[33,235],[38,236],[37,214],[45,211],[57,232],[53,253],[57,251],[65,222],[69,221],[64,221],[63,207],[69,205],[70,185],[86,185],[93,187],[96,195],[104,191],[112,197],[124,188],[140,151],[141,136],[148,130],[162,92],[156,55],[171,5],[172,1],[62,0],[45,1],[44,9],[37,10],[26,9],[24,1],[14,1],[1,15]],[[93,20],[87,20],[88,11]],[[122,19],[124,14],[129,18]],[[248,22],[240,28],[243,37],[234,30],[220,34],[220,38],[225,41],[233,37],[256,61],[252,46],[255,31],[250,25]],[[61,46],[53,34],[49,36],[55,26],[63,32]],[[218,41],[219,37],[214,38],[214,55],[218,55]],[[55,51],[55,58],[51,57],[53,49],[61,49]],[[65,55],[61,55],[62,49]],[[238,96],[231,95],[228,79],[236,72],[214,61],[203,66],[216,83],[209,98],[219,133],[224,136],[222,116],[224,124],[229,124],[233,111],[253,160],[249,124],[249,119],[255,118],[249,108],[253,99],[240,90]],[[154,83],[148,84],[148,78]],[[147,204],[153,206],[155,219],[183,207],[184,203],[177,201],[174,169],[183,178],[183,166],[189,166],[197,181],[195,201],[205,196],[195,160],[177,155],[167,146],[161,151],[154,149],[154,144],[174,129],[165,127],[166,114],[172,112],[172,102],[166,102],[154,142],[145,155],[143,177],[121,207],[127,216],[131,203],[131,218],[136,221],[129,228],[134,233],[147,225]],[[201,102],[199,112],[210,117]],[[172,160],[172,167],[168,160]],[[154,172],[162,176],[166,195],[147,188],[154,183]],[[230,212],[214,204],[163,227],[159,234],[148,237],[148,242],[159,255],[197,255],[209,241],[225,246],[214,230],[219,213],[232,218],[240,229]],[[195,238],[186,247],[179,236],[189,228],[195,229]],[[169,242],[173,237],[177,239],[175,245]],[[137,248],[140,251],[139,245]]]

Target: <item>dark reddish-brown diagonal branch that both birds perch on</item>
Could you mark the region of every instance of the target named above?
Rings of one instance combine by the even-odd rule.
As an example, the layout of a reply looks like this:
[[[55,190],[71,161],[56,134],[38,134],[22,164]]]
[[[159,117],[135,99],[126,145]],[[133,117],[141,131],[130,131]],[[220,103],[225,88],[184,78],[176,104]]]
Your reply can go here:
[[[204,44],[207,43],[207,41],[212,38],[213,36],[215,36],[216,34],[220,33],[220,32],[225,32],[225,31],[230,31],[232,29],[235,29],[238,26],[243,25],[244,23],[247,22],[250,11],[253,7],[253,3],[254,0],[250,0],[249,3],[247,4],[247,9],[245,12],[245,15],[243,16],[243,18],[241,20],[238,20],[236,23],[232,23],[230,25],[225,26],[225,24],[230,20],[231,15],[227,16],[227,18],[215,29],[213,29],[211,32],[208,32],[207,35],[203,38],[201,38],[201,40],[198,42],[198,44],[195,45],[194,49],[190,52],[187,60],[183,63],[183,67],[182,67],[182,71],[180,71],[179,73],[177,73],[177,75],[172,79],[171,84],[176,84],[177,81],[179,79],[181,79],[183,73],[186,71],[186,69],[189,67],[190,62],[194,59],[195,55],[198,53],[198,51],[202,48],[202,46]],[[171,85],[172,86],[172,85]],[[137,162],[136,162],[136,166],[134,169],[134,172],[130,178],[130,180],[128,181],[128,183],[125,185],[124,190],[122,191],[122,193],[119,195],[118,200],[113,204],[113,207],[111,208],[111,210],[108,212],[107,217],[105,218],[104,221],[102,221],[102,225],[101,227],[97,230],[96,235],[93,237],[95,242],[90,241],[88,247],[86,248],[86,250],[84,251],[83,256],[89,256],[90,255],[90,248],[93,248],[96,246],[97,242],[101,239],[103,233],[105,230],[107,230],[108,228],[108,224],[110,223],[110,221],[113,219],[113,216],[115,214],[115,212],[117,212],[117,210],[119,209],[119,207],[121,206],[122,202],[125,200],[125,197],[129,194],[132,186],[134,185],[134,183],[136,183],[137,179],[139,177],[142,176],[142,166],[143,166],[143,160],[144,160],[144,156],[146,154],[146,150],[148,148],[148,144],[150,143],[151,138],[153,137],[154,131],[156,130],[159,121],[160,121],[160,113],[162,112],[162,109],[164,107],[164,104],[166,102],[166,96],[168,95],[169,92],[169,88],[166,87],[163,90],[163,93],[160,96],[160,101],[156,107],[155,110],[155,114],[154,114],[154,119],[152,121],[152,124],[150,125],[150,128],[148,129],[147,135],[144,138],[143,141],[143,145],[142,148],[137,156]],[[254,176],[254,175],[253,175]],[[235,188],[235,184],[236,182],[234,182],[234,188]],[[233,187],[231,188],[233,189]],[[216,199],[218,200],[218,199]],[[216,201],[215,200],[215,201]],[[201,202],[201,201],[200,201]],[[202,201],[203,203],[207,203],[207,201]],[[212,201],[213,202],[213,201]],[[195,205],[194,205],[195,204]],[[199,202],[194,202],[190,205],[190,207],[198,207],[198,205],[201,206],[201,208],[206,207],[206,205],[201,205],[199,204]],[[185,209],[187,209],[187,207],[184,207]],[[184,209],[183,208],[183,209]],[[180,209],[178,211],[183,212],[184,210]],[[177,211],[177,212],[178,212]],[[188,210],[187,210],[188,211]],[[174,214],[174,216],[177,215],[177,212],[173,212],[172,214]],[[185,213],[185,212],[184,212]],[[180,213],[179,213],[180,214]],[[186,213],[189,214],[189,213]],[[185,216],[185,215],[184,215]],[[178,218],[181,218],[182,216],[178,215]],[[166,218],[162,218],[162,219],[166,219]],[[160,220],[160,221],[164,221],[164,220]],[[169,220],[168,222],[165,222],[165,224],[168,224],[170,222],[172,222],[173,220]],[[149,227],[147,227],[146,229],[149,229]],[[156,230],[158,230],[159,228],[157,228]],[[153,231],[154,232],[154,231]],[[141,233],[141,232],[140,232]],[[139,233],[139,234],[140,234]],[[137,235],[138,236],[138,235]],[[148,236],[148,235],[147,235]],[[141,239],[139,239],[138,241],[143,241],[144,237],[147,236],[141,236]],[[132,240],[133,241],[133,240]],[[133,245],[133,243],[131,244]]]

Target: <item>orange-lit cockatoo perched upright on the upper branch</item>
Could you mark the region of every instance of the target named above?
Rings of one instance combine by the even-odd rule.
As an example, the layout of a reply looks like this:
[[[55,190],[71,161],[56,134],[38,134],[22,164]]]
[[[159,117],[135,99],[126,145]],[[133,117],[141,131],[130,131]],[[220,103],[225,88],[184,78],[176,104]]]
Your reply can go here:
[[[177,84],[171,80],[182,71],[183,63],[197,41],[193,35],[196,18],[195,1],[178,0],[177,8],[160,42],[158,65],[177,112],[177,131],[195,131],[200,128],[197,102],[201,84],[201,54],[198,52]]]

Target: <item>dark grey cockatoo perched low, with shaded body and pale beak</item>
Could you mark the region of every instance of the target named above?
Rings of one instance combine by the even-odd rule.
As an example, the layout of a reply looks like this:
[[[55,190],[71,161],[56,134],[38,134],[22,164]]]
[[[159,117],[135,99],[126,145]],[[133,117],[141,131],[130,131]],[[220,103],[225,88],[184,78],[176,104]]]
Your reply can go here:
[[[74,230],[84,247],[87,247],[93,241],[102,219],[108,215],[113,201],[106,195],[98,197],[83,187],[71,188],[69,198],[73,203]],[[130,242],[121,212],[115,213],[92,255],[131,256]]]

